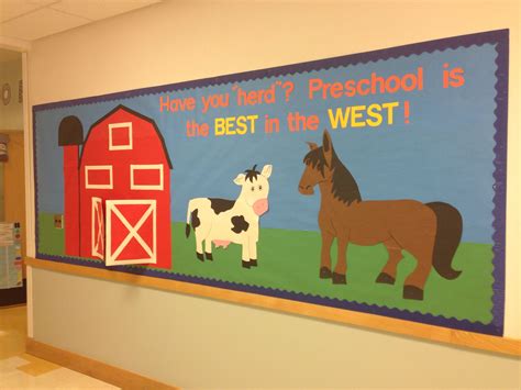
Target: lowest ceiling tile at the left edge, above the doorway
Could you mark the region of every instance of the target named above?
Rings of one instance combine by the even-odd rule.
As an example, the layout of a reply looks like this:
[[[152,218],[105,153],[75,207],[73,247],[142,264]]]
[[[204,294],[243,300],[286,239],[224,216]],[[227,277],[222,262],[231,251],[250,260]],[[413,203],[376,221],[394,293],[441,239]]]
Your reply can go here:
[[[49,8],[43,8],[2,23],[0,26],[0,35],[33,41],[89,22],[90,21],[85,18],[69,15]]]

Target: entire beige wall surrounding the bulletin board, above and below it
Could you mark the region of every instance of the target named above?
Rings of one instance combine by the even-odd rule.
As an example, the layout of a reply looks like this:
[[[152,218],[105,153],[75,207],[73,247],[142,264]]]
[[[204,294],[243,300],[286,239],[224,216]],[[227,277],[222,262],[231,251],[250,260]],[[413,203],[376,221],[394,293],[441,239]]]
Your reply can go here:
[[[521,236],[517,1],[166,1],[35,42],[30,98],[31,104],[82,98],[505,27],[511,29],[506,332],[521,337],[521,254],[512,239]],[[34,272],[36,339],[184,387],[520,386],[519,360],[68,278]],[[108,327],[122,327],[121,337]]]

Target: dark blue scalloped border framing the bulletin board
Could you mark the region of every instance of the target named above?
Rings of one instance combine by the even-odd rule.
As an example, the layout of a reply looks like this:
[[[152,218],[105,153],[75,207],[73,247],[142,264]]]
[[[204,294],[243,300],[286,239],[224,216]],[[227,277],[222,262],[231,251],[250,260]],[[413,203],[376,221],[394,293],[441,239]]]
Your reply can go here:
[[[258,286],[242,285],[236,282],[221,281],[215,279],[207,279],[202,277],[192,277],[184,276],[178,274],[169,274],[166,271],[160,271],[149,268],[136,268],[130,266],[118,266],[107,268],[103,264],[97,261],[89,261],[79,258],[68,258],[62,256],[52,256],[47,254],[42,254],[38,250],[38,213],[37,213],[37,157],[36,148],[33,151],[33,163],[34,163],[34,190],[35,190],[35,201],[34,210],[36,215],[36,257],[41,259],[67,263],[79,266],[88,266],[95,268],[110,269],[114,271],[123,271],[134,275],[144,275],[162,279],[170,279],[178,281],[186,281],[191,283],[224,288],[236,291],[246,291],[253,292],[263,296],[276,297],[290,299],[295,301],[328,305],[339,309],[359,311],[365,313],[372,313],[377,315],[385,315],[397,317],[401,320],[421,322],[431,325],[445,326],[456,330],[464,330],[477,333],[492,334],[492,335],[502,335],[503,334],[503,316],[505,316],[505,243],[506,243],[506,198],[507,198],[507,129],[508,129],[508,68],[509,68],[509,30],[497,30],[489,31],[477,34],[468,34],[454,36],[448,38],[415,43],[404,46],[397,46],[386,49],[379,49],[374,52],[366,52],[359,54],[352,54],[341,57],[333,57],[328,59],[313,60],[308,63],[286,65],[269,69],[259,69],[245,71],[240,74],[219,76],[206,79],[199,79],[193,81],[185,81],[170,83],[165,86],[134,89],[123,92],[109,93],[97,97],[89,97],[82,99],[75,99],[60,102],[52,102],[45,104],[38,104],[33,107],[33,140],[36,140],[36,116],[35,113],[38,111],[80,105],[80,104],[90,104],[98,102],[106,102],[115,99],[126,99],[134,98],[138,96],[152,94],[152,93],[162,93],[162,92],[171,92],[184,89],[208,87],[208,86],[218,86],[229,82],[239,82],[246,80],[254,80],[258,78],[266,77],[276,77],[276,76],[287,76],[297,73],[306,73],[312,70],[322,70],[334,68],[339,66],[355,65],[355,64],[366,64],[369,62],[376,60],[386,60],[391,58],[398,58],[401,56],[419,55],[422,53],[432,53],[434,51],[444,51],[447,48],[456,49],[458,47],[469,47],[473,45],[483,45],[483,44],[495,44],[498,56],[496,58],[497,64],[497,82],[496,82],[496,122],[494,123],[496,129],[495,141],[496,146],[495,152],[495,197],[494,197],[494,222],[492,226],[495,229],[494,233],[494,285],[492,285],[492,321],[489,324],[483,324],[480,322],[470,322],[468,320],[457,320],[455,317],[444,317],[441,315],[432,314],[422,314],[419,312],[411,312],[408,310],[391,309],[386,307],[378,307],[376,304],[358,303],[343,301],[332,298],[317,297],[312,294],[298,293],[292,291],[285,291]]]

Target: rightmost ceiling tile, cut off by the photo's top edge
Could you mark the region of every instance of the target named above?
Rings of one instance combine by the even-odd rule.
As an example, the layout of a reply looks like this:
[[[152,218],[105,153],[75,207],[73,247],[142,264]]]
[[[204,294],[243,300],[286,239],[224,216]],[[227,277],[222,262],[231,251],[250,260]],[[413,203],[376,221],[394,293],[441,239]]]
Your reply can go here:
[[[53,4],[52,8],[90,20],[101,20],[160,1],[162,0],[62,0]]]

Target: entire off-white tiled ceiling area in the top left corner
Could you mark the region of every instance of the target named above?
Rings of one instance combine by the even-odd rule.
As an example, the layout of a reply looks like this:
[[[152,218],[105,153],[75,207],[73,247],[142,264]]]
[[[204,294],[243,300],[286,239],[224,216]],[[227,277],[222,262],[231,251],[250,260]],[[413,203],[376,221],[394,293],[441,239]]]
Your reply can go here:
[[[0,0],[0,37],[34,41],[163,0]]]

